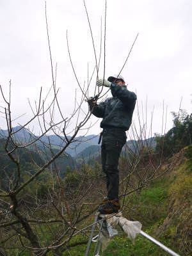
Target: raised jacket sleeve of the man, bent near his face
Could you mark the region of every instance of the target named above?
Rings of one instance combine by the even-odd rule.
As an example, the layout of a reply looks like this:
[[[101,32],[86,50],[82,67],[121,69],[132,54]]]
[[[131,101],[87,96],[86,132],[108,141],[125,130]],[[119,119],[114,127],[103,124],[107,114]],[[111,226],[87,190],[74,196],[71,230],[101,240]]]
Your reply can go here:
[[[118,97],[118,99],[120,99],[123,104],[128,108],[131,108],[132,105],[135,104],[137,99],[134,92],[130,92],[129,90],[127,90],[126,87],[121,87],[114,84],[111,84],[111,93],[113,94],[113,96]]]

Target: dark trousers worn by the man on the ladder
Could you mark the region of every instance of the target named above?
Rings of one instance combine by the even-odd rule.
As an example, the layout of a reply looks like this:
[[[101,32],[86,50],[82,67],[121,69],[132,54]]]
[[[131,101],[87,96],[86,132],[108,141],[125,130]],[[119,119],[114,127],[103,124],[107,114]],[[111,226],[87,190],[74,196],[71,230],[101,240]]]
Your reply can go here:
[[[104,128],[102,131],[102,171],[106,173],[109,200],[118,200],[118,159],[126,139],[127,136],[124,129],[111,127]]]

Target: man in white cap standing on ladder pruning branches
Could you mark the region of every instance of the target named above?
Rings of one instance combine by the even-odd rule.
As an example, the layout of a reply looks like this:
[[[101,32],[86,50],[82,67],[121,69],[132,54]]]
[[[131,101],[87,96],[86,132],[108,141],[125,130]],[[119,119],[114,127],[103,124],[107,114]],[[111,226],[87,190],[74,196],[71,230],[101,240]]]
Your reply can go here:
[[[122,147],[126,143],[126,133],[132,122],[132,113],[136,104],[136,94],[127,90],[124,77],[114,75],[106,79],[99,79],[97,86],[111,89],[113,97],[97,104],[93,97],[88,98],[90,111],[93,115],[103,118],[100,127],[103,128],[101,144],[102,171],[106,173],[108,198],[99,205],[101,214],[118,212],[118,159]],[[94,106],[94,108],[93,108]],[[93,109],[92,109],[93,108]]]

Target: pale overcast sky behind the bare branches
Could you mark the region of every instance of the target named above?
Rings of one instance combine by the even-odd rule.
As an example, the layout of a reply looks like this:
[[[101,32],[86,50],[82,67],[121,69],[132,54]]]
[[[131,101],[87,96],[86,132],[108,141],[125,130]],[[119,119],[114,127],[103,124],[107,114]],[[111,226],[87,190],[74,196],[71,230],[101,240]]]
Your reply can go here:
[[[104,1],[86,0],[86,5],[99,56],[100,17],[104,25]],[[108,0],[107,5],[106,78],[120,71],[136,34],[140,33],[122,76],[128,83],[127,89],[136,92],[140,111],[142,102],[145,108],[147,98],[148,120],[154,108],[152,133],[161,132],[164,100],[164,108],[168,106],[168,131],[172,127],[170,112],[179,110],[181,97],[181,108],[191,113],[192,1]],[[80,93],[68,58],[67,30],[72,60],[81,84],[87,79],[88,63],[90,72],[95,65],[83,1],[48,0],[47,16],[52,59],[54,65],[58,63],[57,86],[61,88],[59,101],[63,114],[70,116],[76,88],[77,95]],[[0,28],[0,83],[8,95],[8,84],[12,79],[12,116],[16,118],[27,113],[17,120],[24,124],[31,116],[28,98],[34,102],[40,86],[43,86],[45,95],[52,84],[45,1],[1,0]],[[103,60],[102,51],[101,77]],[[95,81],[96,75],[93,77],[90,96]],[[104,88],[104,92],[106,90]],[[108,97],[111,97],[110,92]],[[4,106],[1,97],[0,106]],[[88,109],[86,102],[83,103],[83,109]],[[0,127],[6,129],[2,116]],[[92,116],[91,122],[97,119]],[[137,124],[137,110],[134,111],[133,119]],[[100,132],[100,121],[90,129],[89,134]],[[13,122],[13,126],[17,122]],[[37,126],[35,131],[38,131]]]

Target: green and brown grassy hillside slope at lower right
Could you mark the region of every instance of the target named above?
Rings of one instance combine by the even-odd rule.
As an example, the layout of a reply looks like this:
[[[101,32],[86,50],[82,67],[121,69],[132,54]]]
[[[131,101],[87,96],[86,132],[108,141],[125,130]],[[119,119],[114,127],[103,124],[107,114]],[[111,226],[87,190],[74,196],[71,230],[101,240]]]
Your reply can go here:
[[[140,221],[143,231],[175,252],[189,256],[192,255],[192,146],[173,157],[177,157],[177,165],[172,172],[143,189],[140,196],[129,197],[123,215],[129,220]],[[132,244],[121,230],[118,232],[103,256],[169,255],[142,236]],[[76,241],[84,241],[84,237],[78,237]],[[70,254],[84,255],[85,250],[86,245],[76,246],[70,249]],[[63,252],[63,255],[68,255],[68,252]]]

